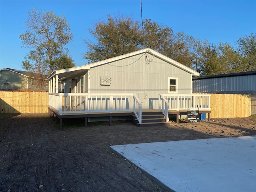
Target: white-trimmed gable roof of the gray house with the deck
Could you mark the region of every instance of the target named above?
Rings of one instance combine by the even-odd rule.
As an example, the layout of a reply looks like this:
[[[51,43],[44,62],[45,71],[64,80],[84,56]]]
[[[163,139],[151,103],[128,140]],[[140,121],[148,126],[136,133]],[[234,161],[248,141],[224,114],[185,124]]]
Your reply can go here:
[[[102,60],[102,61],[99,61],[99,62],[95,62],[95,63],[92,63],[92,64],[87,64],[87,65],[83,65],[83,66],[79,66],[79,67],[72,67],[72,68],[67,68],[67,69],[61,69],[61,70],[56,70],[54,72],[52,72],[48,77],[47,79],[51,79],[52,77],[54,77],[55,75],[59,75],[59,79],[66,79],[66,78],[70,78],[76,74],[82,74],[83,72],[86,72],[88,70],[90,70],[90,68],[92,67],[96,67],[96,66],[100,66],[100,65],[104,65],[104,64],[108,64],[110,62],[115,62],[117,60],[122,60],[122,59],[125,59],[125,58],[128,58],[128,57],[131,57],[131,56],[136,56],[138,54],[143,54],[143,53],[147,53],[147,54],[151,54],[152,56],[154,57],[157,57],[157,58],[160,58],[162,60],[164,60],[165,62],[167,63],[170,63],[190,74],[192,74],[193,76],[199,76],[200,73],[194,71],[193,69],[171,59],[171,58],[168,58],[166,56],[164,56],[163,54],[160,54],[152,49],[149,49],[149,48],[146,48],[146,49],[142,49],[142,50],[138,50],[138,51],[135,51],[135,52],[131,52],[131,53],[128,53],[128,54],[124,54],[124,55],[120,55],[120,56],[116,56],[116,57],[113,57],[113,58],[109,58],[109,59],[106,59],[106,60]]]

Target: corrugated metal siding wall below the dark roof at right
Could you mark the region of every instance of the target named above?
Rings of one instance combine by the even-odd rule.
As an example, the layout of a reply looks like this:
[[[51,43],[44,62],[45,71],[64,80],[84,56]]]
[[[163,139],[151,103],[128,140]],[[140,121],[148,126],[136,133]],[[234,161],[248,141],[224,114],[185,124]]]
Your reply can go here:
[[[193,92],[256,91],[256,75],[193,80]]]

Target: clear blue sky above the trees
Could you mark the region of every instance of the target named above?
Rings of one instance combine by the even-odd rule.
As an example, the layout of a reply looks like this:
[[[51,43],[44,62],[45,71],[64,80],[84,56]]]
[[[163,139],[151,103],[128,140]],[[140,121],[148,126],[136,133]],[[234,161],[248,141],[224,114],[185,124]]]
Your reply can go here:
[[[24,31],[28,10],[53,11],[65,15],[71,24],[73,41],[68,44],[76,66],[87,64],[84,39],[92,39],[88,28],[97,20],[122,13],[141,22],[140,0],[1,0],[0,1],[0,69],[22,69],[22,61],[29,50],[22,48],[19,35]],[[234,42],[256,32],[256,0],[142,0],[142,16],[174,31],[207,39],[211,44]]]

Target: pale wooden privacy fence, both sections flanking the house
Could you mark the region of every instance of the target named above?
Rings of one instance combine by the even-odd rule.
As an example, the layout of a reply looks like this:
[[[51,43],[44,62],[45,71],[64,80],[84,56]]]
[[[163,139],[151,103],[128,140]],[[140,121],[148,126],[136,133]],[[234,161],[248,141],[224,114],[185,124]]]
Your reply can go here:
[[[0,113],[47,113],[48,93],[0,92]],[[248,117],[251,115],[252,96],[211,94],[211,118]]]

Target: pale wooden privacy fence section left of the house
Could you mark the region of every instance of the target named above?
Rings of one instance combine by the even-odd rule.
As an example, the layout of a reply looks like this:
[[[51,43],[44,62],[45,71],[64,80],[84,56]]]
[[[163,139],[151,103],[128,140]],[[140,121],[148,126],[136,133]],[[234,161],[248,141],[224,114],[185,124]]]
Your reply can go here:
[[[0,113],[47,113],[46,92],[0,92]]]

